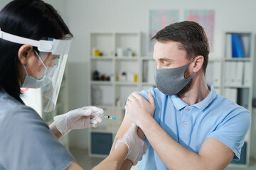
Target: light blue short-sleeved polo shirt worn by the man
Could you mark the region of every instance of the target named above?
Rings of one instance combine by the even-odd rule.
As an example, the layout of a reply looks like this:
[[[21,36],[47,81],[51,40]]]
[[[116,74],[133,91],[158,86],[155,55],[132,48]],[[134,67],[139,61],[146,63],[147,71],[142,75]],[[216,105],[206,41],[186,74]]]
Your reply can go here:
[[[154,96],[156,110],[154,119],[176,142],[198,154],[203,141],[213,137],[235,153],[233,159],[240,159],[245,135],[250,128],[250,112],[242,106],[216,94],[208,84],[210,94],[203,101],[188,106],[178,96],[167,96],[159,89],[141,91],[139,94],[148,100],[149,92]],[[144,139],[148,144],[149,141]],[[161,144],[159,144],[161,145]],[[139,169],[167,169],[154,149],[149,149]]]

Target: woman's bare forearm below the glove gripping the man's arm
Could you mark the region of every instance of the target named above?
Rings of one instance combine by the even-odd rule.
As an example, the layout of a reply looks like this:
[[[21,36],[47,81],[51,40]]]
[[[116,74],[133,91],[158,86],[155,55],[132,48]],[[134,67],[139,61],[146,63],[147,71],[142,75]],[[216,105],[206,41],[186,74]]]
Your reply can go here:
[[[100,170],[100,169],[110,169],[110,170],[115,170],[115,169],[120,169],[125,157],[127,156],[128,153],[128,147],[126,144],[121,143],[117,149],[114,149],[110,155],[104,159],[100,164],[95,166],[93,170]],[[122,166],[122,169],[130,169],[132,166],[132,162],[126,162],[126,166]]]

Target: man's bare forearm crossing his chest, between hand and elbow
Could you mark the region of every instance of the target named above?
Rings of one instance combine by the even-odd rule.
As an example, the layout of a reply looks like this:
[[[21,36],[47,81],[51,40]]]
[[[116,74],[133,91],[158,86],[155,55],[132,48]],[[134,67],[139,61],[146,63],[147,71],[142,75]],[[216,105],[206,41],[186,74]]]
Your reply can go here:
[[[154,118],[144,120],[141,128],[168,169],[205,169],[202,157],[178,144]]]

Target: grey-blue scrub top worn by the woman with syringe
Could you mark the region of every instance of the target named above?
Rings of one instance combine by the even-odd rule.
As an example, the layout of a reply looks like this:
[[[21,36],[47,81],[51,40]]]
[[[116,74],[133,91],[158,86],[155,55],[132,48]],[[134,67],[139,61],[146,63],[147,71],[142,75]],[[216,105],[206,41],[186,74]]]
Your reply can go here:
[[[67,169],[74,157],[32,108],[0,92],[0,169]]]

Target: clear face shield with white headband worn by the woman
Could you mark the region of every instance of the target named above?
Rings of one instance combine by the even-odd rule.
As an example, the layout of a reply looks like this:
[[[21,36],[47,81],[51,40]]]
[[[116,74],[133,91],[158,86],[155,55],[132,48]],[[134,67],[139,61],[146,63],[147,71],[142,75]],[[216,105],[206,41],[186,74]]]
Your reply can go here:
[[[50,112],[55,109],[58,94],[60,91],[60,86],[63,80],[63,74],[65,70],[65,64],[68,60],[68,52],[70,49],[71,40],[57,40],[50,39],[48,40],[32,40],[28,38],[23,38],[17,35],[11,35],[9,33],[5,33],[0,30],[0,38],[4,40],[8,40],[10,42],[22,44],[22,45],[31,45],[33,47],[37,47],[39,51],[40,57],[43,55],[47,55],[51,58],[58,58],[58,60],[54,60],[53,65],[47,65],[46,67],[55,67],[55,72],[51,81],[46,84],[46,86],[41,87],[41,96],[42,96],[42,104],[43,111]],[[43,55],[41,55],[43,54]],[[53,57],[54,56],[54,57]],[[57,56],[57,57],[55,57]],[[46,64],[46,60],[43,60]],[[43,69],[45,69],[43,67]]]

